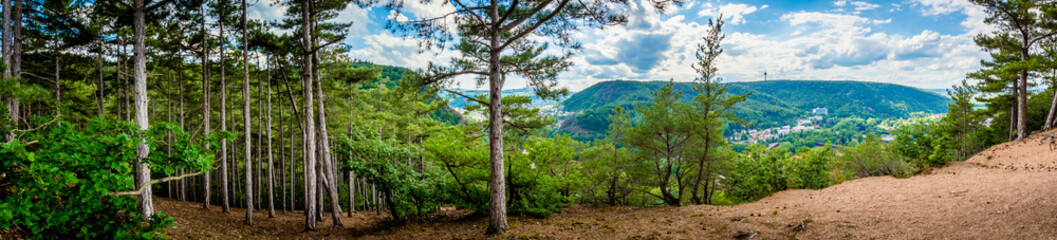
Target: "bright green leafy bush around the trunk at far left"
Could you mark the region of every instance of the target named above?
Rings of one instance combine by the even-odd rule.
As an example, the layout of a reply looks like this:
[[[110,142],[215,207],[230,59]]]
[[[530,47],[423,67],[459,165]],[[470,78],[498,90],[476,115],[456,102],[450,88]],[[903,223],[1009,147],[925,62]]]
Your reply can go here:
[[[42,123],[39,117],[35,122]],[[136,146],[171,145],[173,155],[152,150],[152,170],[208,169],[212,156],[173,127],[160,124],[141,132],[130,123],[95,119],[48,125],[0,145],[0,228],[14,227],[32,238],[152,239],[172,224],[162,213],[143,221],[137,199],[112,197],[133,189]],[[168,131],[177,140],[164,143]]]

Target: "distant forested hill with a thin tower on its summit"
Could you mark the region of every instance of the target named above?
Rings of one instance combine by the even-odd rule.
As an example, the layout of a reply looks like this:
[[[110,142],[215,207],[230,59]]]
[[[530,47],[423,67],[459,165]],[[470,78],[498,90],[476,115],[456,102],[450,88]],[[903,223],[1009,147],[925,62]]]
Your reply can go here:
[[[562,122],[562,130],[592,137],[609,127],[606,116],[615,106],[634,109],[667,81],[615,80],[598,82],[562,101],[563,111],[577,112]],[[829,109],[830,117],[907,117],[912,112],[944,113],[948,98],[940,94],[884,82],[834,80],[771,80],[729,82],[730,93],[753,94],[735,113],[754,128],[792,125],[814,108]],[[682,101],[697,95],[689,82],[675,82]],[[737,127],[735,127],[737,128]]]

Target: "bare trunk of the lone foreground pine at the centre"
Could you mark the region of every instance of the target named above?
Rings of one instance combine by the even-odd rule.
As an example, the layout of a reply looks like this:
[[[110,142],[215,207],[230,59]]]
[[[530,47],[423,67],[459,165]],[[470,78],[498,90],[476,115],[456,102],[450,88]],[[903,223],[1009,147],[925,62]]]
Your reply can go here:
[[[488,10],[490,19],[499,19],[498,0],[492,0]],[[503,176],[503,79],[500,63],[500,36],[498,25],[501,22],[493,22],[489,26],[492,36],[489,37],[489,59],[488,59],[488,145],[490,146],[488,179],[488,228],[486,234],[503,234],[509,229],[506,224],[506,179]]]

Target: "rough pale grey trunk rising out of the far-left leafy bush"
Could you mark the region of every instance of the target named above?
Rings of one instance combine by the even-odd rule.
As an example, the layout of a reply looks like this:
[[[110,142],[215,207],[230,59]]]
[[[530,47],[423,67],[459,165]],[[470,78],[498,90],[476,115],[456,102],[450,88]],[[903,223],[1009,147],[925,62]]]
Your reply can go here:
[[[140,125],[141,131],[146,131],[149,126],[147,119],[147,45],[144,42],[144,37],[147,35],[145,14],[144,14],[144,0],[134,0],[133,8],[135,12],[132,14],[133,19],[133,38],[135,51],[135,61],[132,66],[132,74],[135,77],[135,123]],[[151,201],[151,189],[150,185],[150,167],[143,160],[147,158],[150,153],[150,148],[147,147],[145,142],[141,142],[140,146],[136,147],[136,179],[135,181],[137,187],[144,185],[145,187],[143,193],[140,195],[140,213],[143,220],[150,219],[150,216],[154,214],[154,204]]]

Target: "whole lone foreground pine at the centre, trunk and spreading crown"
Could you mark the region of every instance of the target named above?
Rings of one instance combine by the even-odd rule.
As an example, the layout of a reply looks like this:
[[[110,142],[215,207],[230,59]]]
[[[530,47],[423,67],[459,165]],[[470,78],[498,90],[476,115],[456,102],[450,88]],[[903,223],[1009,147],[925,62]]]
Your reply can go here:
[[[424,1],[430,3],[432,1]],[[488,234],[502,234],[509,226],[506,223],[506,184],[503,177],[503,107],[501,90],[507,74],[520,75],[544,98],[564,94],[557,89],[556,76],[571,64],[568,59],[572,51],[559,55],[544,55],[549,43],[575,50],[579,48],[572,34],[581,26],[605,26],[623,23],[626,17],[614,10],[626,1],[492,1],[467,2],[444,1],[455,8],[451,13],[435,16],[415,16],[406,22],[391,24],[398,32],[426,39],[426,45],[443,43],[455,39],[458,30],[459,43],[456,50],[462,56],[451,60],[451,67],[430,69],[434,79],[447,79],[459,75],[477,75],[480,82],[488,84],[489,118],[488,143],[490,145],[490,208]],[[403,5],[403,0],[389,3]],[[397,8],[397,13],[401,11]],[[453,18],[457,27],[447,27],[446,20]],[[550,40],[539,40],[550,39]]]

